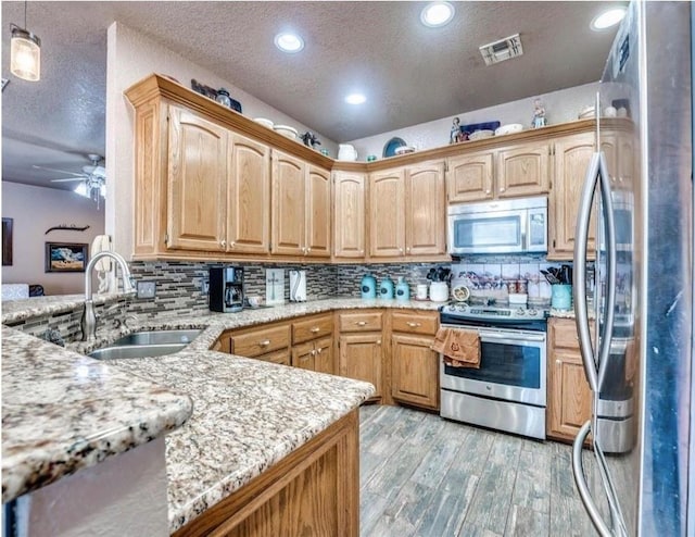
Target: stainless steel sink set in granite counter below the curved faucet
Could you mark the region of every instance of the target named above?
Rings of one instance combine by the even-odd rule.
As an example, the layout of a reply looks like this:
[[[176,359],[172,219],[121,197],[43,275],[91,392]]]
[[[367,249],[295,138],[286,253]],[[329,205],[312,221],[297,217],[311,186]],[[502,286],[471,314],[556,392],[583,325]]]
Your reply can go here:
[[[89,357],[97,360],[163,357],[184,349],[203,332],[200,329],[134,332]]]

